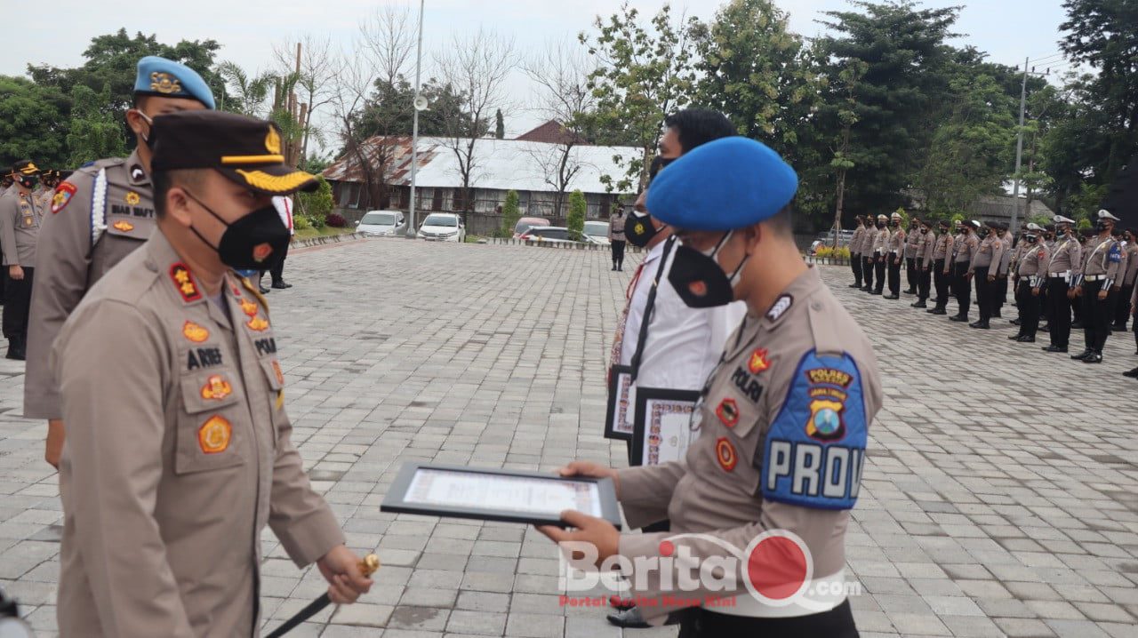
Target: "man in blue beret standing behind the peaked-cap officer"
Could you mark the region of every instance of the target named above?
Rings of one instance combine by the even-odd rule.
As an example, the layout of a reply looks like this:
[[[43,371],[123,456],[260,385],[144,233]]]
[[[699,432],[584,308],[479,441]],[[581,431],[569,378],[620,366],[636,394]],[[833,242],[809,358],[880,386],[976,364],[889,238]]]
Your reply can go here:
[[[64,422],[59,388],[48,372],[51,343],[83,295],[154,231],[154,116],[212,108],[213,93],[197,73],[164,58],[142,58],[134,81],[134,107],[126,111],[126,124],[139,141],[134,152],[80,168],[56,188],[51,214],[40,233],[24,383],[24,416],[48,420],[44,457],[53,466],[59,465]]]

